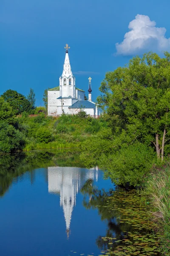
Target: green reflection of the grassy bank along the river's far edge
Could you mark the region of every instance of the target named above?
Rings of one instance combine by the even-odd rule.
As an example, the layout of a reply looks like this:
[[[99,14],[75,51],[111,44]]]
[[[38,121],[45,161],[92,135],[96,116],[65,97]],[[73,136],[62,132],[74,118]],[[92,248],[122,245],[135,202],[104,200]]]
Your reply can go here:
[[[14,178],[30,172],[31,183],[33,183],[34,169],[48,166],[84,167],[76,151],[31,151],[2,155],[0,156],[0,196],[8,190]]]

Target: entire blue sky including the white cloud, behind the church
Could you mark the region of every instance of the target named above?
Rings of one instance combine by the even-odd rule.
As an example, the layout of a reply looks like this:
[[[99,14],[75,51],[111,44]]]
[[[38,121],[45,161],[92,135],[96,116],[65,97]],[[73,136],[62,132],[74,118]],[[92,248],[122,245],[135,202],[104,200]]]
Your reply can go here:
[[[1,0],[0,94],[31,87],[43,105],[44,90],[59,85],[68,43],[76,86],[87,95],[91,76],[95,100],[107,71],[170,50],[169,9],[167,0]]]

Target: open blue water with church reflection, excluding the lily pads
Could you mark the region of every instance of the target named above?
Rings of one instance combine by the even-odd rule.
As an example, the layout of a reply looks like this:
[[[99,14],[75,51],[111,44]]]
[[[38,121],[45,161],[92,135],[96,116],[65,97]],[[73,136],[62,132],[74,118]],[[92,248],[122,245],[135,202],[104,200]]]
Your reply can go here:
[[[97,167],[48,166],[12,178],[0,198],[0,255],[99,254],[96,239],[108,222],[101,221],[98,209],[83,205],[81,189],[89,180],[98,189],[114,189]]]

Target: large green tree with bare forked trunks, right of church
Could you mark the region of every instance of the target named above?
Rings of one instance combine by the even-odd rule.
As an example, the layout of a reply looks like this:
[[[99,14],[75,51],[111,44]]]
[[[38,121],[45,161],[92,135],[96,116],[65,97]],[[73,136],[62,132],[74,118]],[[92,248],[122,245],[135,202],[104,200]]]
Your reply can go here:
[[[128,145],[138,141],[154,147],[163,160],[170,140],[170,53],[164,58],[152,52],[136,56],[125,67],[106,73],[100,90],[98,103],[107,112],[115,138],[124,134]]]

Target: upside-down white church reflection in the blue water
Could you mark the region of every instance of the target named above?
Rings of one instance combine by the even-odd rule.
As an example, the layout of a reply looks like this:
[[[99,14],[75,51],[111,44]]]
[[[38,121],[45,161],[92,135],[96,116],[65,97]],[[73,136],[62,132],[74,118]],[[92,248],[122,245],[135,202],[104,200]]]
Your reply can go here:
[[[98,175],[97,167],[89,170],[77,167],[48,167],[48,192],[60,195],[60,207],[64,212],[67,236],[79,189],[88,179],[97,181]]]

